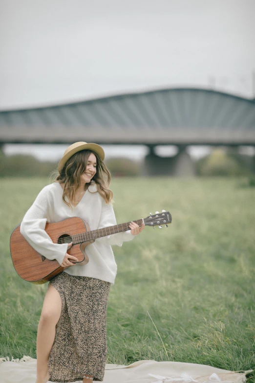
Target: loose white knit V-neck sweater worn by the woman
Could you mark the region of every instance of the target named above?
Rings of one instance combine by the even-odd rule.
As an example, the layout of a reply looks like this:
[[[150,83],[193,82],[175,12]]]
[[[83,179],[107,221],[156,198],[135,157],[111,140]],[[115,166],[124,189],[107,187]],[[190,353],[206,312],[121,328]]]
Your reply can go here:
[[[95,191],[97,185],[93,182],[78,205],[71,209],[62,200],[63,189],[58,182],[45,186],[26,212],[21,223],[21,234],[41,255],[56,259],[61,264],[68,244],[52,242],[44,230],[46,221],[60,222],[65,218],[80,217],[89,225],[90,230],[117,224],[112,205],[106,204],[99,193],[92,194]],[[64,272],[101,279],[113,285],[117,265],[110,245],[122,246],[124,241],[131,241],[133,238],[131,230],[98,238],[93,244],[86,246],[89,262],[82,266],[71,266]]]

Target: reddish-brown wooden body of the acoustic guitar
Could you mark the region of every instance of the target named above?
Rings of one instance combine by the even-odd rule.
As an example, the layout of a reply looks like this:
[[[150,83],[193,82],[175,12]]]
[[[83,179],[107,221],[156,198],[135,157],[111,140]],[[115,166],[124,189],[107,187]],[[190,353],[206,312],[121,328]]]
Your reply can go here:
[[[72,241],[70,236],[89,230],[89,226],[79,217],[71,217],[55,223],[47,222],[45,225],[45,231],[53,243],[70,243]],[[88,263],[85,247],[93,242],[95,240],[74,245],[67,252],[79,259],[79,262],[76,262],[78,265],[85,265]],[[10,249],[15,270],[28,282],[43,284],[67,269],[61,267],[57,260],[49,260],[32,248],[22,236],[20,225],[12,232]]]

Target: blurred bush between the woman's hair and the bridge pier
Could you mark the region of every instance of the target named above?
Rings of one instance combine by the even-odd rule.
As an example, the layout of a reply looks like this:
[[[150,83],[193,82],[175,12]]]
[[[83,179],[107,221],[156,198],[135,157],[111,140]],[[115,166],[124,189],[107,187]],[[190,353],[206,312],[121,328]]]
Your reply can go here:
[[[106,160],[112,176],[138,176],[140,174],[140,164],[129,158],[109,158]]]

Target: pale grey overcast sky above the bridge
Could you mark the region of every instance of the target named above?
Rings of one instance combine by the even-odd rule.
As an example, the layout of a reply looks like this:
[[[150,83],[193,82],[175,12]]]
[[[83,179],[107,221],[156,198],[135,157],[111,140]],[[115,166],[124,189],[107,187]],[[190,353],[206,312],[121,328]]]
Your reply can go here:
[[[1,0],[0,110],[185,86],[252,97],[254,47],[254,0]]]

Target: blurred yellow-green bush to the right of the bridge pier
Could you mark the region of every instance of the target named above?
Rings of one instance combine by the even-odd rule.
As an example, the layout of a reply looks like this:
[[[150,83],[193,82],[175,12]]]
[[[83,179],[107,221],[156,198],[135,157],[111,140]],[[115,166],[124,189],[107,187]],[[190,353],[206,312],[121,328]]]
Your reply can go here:
[[[198,160],[196,169],[199,176],[247,176],[251,174],[251,170],[245,164],[222,149],[215,149],[209,156]]]

